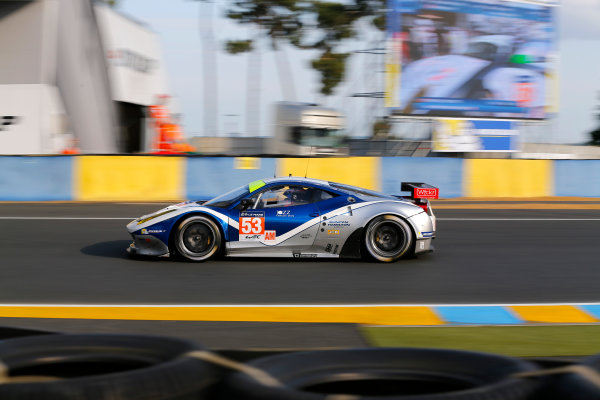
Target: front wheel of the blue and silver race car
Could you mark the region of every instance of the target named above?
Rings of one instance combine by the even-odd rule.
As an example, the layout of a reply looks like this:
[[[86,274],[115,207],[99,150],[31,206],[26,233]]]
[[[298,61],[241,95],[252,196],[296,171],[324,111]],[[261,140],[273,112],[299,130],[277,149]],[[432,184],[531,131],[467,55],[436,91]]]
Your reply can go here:
[[[219,254],[223,236],[211,218],[193,215],[177,224],[173,243],[179,257],[202,262]]]

